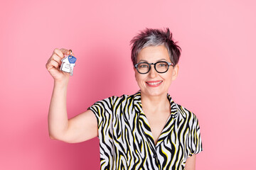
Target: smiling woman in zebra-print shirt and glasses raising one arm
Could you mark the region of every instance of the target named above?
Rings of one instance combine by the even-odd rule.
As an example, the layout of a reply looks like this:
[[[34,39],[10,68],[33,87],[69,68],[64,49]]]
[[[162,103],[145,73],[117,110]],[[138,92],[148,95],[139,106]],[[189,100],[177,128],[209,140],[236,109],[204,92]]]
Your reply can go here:
[[[131,42],[140,90],[97,101],[69,120],[69,74],[59,68],[70,52],[53,51],[46,64],[54,79],[48,113],[50,137],[82,142],[98,136],[101,169],[196,169],[196,154],[202,151],[198,119],[168,94],[178,75],[180,47],[168,28],[146,29]]]

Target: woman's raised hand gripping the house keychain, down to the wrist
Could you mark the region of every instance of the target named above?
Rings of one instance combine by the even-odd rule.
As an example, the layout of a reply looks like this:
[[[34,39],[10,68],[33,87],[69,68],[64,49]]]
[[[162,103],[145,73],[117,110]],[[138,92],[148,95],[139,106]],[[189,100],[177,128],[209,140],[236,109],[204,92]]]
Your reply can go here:
[[[55,48],[55,50],[53,50],[53,55],[50,56],[46,63],[46,69],[55,81],[68,81],[70,77],[69,73],[60,70],[61,60],[65,55],[70,55],[70,51],[64,48]]]

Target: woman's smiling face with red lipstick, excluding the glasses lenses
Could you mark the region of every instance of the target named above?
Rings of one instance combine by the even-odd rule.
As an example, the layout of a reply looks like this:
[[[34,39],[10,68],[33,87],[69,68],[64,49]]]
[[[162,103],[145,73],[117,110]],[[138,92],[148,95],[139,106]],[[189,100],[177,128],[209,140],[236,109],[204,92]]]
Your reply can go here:
[[[145,47],[137,56],[137,63],[155,63],[159,61],[171,62],[168,50],[164,45]],[[168,93],[171,82],[176,79],[178,64],[176,64],[176,67],[169,66],[168,71],[165,73],[156,72],[154,65],[151,65],[151,69],[146,74],[140,74],[135,68],[134,72],[137,84],[143,95],[149,97],[161,96]]]

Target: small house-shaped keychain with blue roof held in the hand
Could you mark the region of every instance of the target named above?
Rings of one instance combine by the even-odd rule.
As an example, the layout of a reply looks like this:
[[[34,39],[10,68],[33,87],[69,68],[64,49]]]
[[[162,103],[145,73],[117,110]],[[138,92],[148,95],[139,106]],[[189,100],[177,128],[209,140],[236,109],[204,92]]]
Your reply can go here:
[[[72,50],[69,51],[70,55],[61,60],[60,70],[63,72],[68,72],[70,73],[70,76],[73,76],[76,58],[72,55]]]

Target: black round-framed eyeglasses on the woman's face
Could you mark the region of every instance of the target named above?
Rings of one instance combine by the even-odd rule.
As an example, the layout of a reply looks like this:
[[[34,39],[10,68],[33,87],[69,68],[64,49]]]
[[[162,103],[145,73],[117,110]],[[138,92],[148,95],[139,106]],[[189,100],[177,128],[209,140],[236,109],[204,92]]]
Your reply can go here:
[[[135,64],[134,67],[137,69],[137,71],[140,74],[146,74],[150,71],[151,65],[154,65],[154,69],[158,73],[167,72],[170,65],[172,67],[174,67],[174,64],[172,64],[171,62],[156,62],[156,63],[139,62],[139,63]]]

